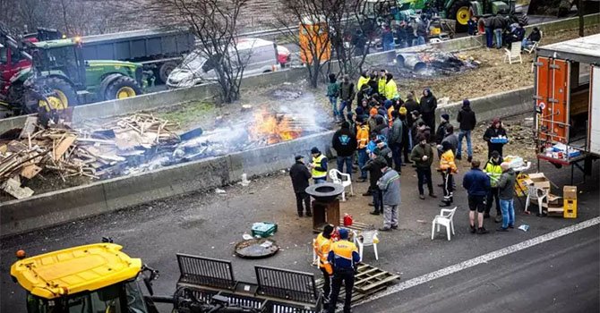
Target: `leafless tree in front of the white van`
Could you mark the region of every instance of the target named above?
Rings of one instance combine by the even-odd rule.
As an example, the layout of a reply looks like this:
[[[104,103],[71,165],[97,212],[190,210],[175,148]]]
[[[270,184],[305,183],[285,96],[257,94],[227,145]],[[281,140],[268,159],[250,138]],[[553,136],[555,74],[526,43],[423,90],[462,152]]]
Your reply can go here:
[[[147,13],[169,26],[189,27],[198,40],[197,49],[215,71],[221,100],[239,98],[244,67],[250,55],[237,50],[237,20],[247,0],[146,0]]]

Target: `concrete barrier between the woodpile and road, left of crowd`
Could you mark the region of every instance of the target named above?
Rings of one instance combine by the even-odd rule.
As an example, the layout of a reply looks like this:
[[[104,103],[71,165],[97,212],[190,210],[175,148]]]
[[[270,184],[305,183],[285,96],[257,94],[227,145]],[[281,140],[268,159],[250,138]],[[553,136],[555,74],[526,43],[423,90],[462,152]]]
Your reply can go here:
[[[241,180],[242,173],[261,175],[286,169],[296,155],[310,149],[329,151],[333,131],[242,151],[223,157],[173,165],[148,173],[57,190],[0,204],[0,237],[133,207],[195,190],[209,190]]]

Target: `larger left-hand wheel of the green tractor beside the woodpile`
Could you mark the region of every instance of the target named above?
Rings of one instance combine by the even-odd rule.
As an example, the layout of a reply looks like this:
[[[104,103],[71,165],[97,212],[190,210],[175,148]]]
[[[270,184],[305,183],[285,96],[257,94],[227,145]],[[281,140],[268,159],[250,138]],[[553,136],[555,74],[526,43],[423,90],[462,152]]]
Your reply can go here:
[[[45,107],[48,112],[78,105],[77,92],[68,81],[59,77],[50,77],[40,80],[39,84],[42,86],[42,90],[51,92],[46,96],[47,101],[44,99],[38,101],[38,106]]]

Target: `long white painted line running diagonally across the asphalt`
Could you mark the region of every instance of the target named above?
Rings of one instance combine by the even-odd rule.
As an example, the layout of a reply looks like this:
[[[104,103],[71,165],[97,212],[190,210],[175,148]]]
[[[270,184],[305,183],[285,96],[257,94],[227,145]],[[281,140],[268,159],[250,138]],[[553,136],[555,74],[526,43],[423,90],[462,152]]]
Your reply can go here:
[[[495,258],[501,258],[501,257],[507,256],[509,254],[515,253],[517,251],[525,250],[527,248],[536,246],[540,243],[544,243],[545,241],[552,241],[553,239],[556,239],[556,238],[559,238],[562,236],[566,236],[570,233],[575,233],[577,231],[580,231],[582,229],[585,229],[587,227],[591,227],[591,226],[594,226],[597,224],[600,224],[600,216],[597,216],[595,218],[581,222],[579,224],[574,224],[569,227],[561,228],[552,233],[546,233],[539,237],[532,238],[527,241],[519,242],[517,244],[513,244],[512,246],[502,248],[501,250],[495,250],[493,252],[484,254],[483,256],[480,256],[480,257],[468,259],[464,262],[460,262],[453,266],[448,266],[448,267],[442,268],[440,270],[437,270],[437,271],[429,273],[429,274],[425,274],[425,275],[415,277],[413,279],[409,279],[406,282],[399,283],[397,285],[394,285],[394,286],[386,289],[384,292],[377,293],[376,295],[373,295],[372,297],[362,300],[362,301],[356,303],[356,305],[368,303],[368,302],[380,299],[382,297],[388,296],[393,293],[402,292],[404,290],[407,290],[408,288],[415,287],[419,284],[431,282],[434,279],[438,279],[443,276],[451,275],[451,274],[457,273],[459,271],[462,271],[463,269],[477,266],[482,263],[487,263]]]

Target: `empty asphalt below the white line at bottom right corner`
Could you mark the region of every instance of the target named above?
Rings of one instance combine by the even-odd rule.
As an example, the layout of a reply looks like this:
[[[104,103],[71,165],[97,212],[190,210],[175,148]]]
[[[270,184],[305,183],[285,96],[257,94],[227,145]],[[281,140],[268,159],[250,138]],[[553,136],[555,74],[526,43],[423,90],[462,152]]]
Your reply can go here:
[[[598,312],[599,231],[592,226],[374,300],[354,312]]]

